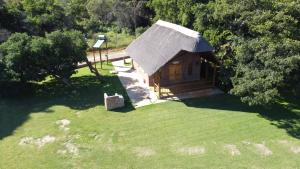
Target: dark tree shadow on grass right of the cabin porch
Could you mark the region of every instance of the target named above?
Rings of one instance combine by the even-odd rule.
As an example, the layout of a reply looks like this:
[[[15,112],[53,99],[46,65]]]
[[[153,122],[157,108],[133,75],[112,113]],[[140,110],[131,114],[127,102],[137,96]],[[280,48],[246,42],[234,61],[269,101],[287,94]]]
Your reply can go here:
[[[249,107],[238,97],[227,94],[184,100],[189,107],[210,108],[217,110],[236,111],[237,113],[258,113],[258,116],[268,119],[272,125],[285,129],[286,132],[300,139],[300,103],[297,98],[286,98],[286,104],[274,104],[267,107]]]

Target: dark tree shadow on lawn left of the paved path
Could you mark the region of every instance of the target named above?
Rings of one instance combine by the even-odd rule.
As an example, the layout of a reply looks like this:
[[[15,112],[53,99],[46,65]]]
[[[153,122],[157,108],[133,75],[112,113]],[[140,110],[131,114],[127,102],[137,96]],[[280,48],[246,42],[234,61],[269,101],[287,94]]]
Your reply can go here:
[[[80,76],[71,79],[72,87],[51,80],[35,84],[32,96],[19,96],[0,100],[0,140],[11,135],[16,128],[28,120],[31,113],[51,113],[55,105],[74,110],[86,110],[104,104],[104,92],[122,94],[126,107],[116,112],[127,113],[134,110],[117,76],[103,76],[99,81],[95,76]],[[99,110],[100,111],[100,110]]]

